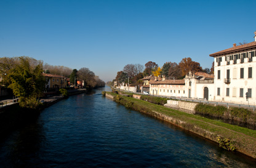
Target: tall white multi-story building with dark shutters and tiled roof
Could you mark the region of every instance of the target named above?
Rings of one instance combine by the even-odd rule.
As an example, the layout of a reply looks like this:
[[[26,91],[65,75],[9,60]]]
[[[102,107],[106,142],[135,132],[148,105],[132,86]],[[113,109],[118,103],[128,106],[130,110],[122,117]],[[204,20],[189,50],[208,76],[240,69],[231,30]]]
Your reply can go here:
[[[214,54],[214,100],[232,103],[256,103],[256,31],[255,40]],[[248,97],[248,99],[246,98]]]

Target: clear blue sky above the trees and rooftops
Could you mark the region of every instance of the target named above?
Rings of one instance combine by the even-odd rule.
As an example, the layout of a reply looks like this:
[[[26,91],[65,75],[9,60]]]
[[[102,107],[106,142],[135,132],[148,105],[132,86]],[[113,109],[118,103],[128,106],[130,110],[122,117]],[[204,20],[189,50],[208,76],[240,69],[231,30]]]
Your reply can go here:
[[[129,63],[210,68],[209,54],[254,41],[256,1],[0,0],[0,57],[86,67],[104,81]]]

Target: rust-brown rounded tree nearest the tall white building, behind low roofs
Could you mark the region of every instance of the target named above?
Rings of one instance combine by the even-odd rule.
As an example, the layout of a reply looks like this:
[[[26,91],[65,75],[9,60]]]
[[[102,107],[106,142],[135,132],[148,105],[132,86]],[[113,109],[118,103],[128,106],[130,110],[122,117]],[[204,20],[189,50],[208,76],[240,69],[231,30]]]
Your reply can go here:
[[[191,73],[202,71],[200,63],[192,61],[190,57],[183,58],[182,61],[178,63],[178,66],[180,66],[180,69],[182,70],[182,76],[188,74],[189,71],[191,71]]]

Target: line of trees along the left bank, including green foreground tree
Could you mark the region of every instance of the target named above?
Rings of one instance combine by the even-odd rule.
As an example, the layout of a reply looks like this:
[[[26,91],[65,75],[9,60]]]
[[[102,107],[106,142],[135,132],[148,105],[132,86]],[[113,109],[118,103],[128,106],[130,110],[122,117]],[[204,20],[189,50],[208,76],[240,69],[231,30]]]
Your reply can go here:
[[[65,66],[43,64],[41,60],[25,56],[0,58],[1,86],[12,89],[13,94],[19,97],[22,107],[35,108],[39,105],[38,99],[46,84],[42,73],[63,75],[70,78],[70,82],[73,80],[71,84],[74,84],[76,77],[85,81],[87,89],[105,86],[105,82],[95,76],[89,68],[81,68],[79,71],[71,70]],[[73,73],[74,76],[72,76]]]

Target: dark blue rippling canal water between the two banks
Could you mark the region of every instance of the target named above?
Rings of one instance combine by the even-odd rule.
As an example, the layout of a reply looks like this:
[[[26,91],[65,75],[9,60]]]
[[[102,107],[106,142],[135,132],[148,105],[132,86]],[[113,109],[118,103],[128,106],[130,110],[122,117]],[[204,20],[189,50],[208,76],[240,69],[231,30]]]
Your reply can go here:
[[[0,141],[0,167],[255,167],[242,154],[126,109],[102,90],[74,95]]]

